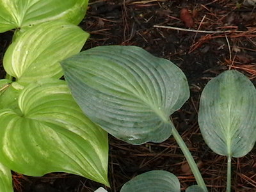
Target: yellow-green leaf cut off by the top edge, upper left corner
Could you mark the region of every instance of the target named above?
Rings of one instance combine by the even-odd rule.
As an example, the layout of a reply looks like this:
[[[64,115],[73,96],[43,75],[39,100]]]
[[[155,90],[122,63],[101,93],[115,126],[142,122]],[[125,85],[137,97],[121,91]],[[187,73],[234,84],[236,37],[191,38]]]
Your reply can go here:
[[[49,20],[66,20],[79,24],[88,0],[2,0],[0,1],[0,33]]]

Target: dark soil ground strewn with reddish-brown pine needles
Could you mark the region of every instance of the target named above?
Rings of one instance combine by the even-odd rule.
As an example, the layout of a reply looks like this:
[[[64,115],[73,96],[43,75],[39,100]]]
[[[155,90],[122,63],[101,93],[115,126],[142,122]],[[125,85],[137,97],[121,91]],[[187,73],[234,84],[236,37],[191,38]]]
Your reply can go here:
[[[86,18],[80,24],[91,34],[84,49],[97,45],[137,45],[155,56],[173,61],[186,74],[191,97],[172,115],[172,120],[198,162],[209,191],[225,191],[227,159],[214,154],[205,145],[197,123],[198,102],[205,84],[228,68],[236,68],[256,83],[256,10],[228,0],[90,2]],[[185,14],[181,20],[182,8],[191,15]],[[193,22],[184,23],[191,20],[190,17]],[[180,29],[156,28],[154,25]],[[1,58],[11,38],[12,32],[0,35]],[[0,72],[3,77],[3,68]],[[255,159],[255,148],[245,157],[232,159],[232,191],[256,191]],[[195,184],[186,159],[172,136],[163,143],[138,146],[109,136],[109,192],[119,191],[132,177],[149,170],[174,173],[182,189]],[[13,173],[13,180],[15,190],[19,192],[81,192],[102,186],[66,173],[51,173],[45,177]]]

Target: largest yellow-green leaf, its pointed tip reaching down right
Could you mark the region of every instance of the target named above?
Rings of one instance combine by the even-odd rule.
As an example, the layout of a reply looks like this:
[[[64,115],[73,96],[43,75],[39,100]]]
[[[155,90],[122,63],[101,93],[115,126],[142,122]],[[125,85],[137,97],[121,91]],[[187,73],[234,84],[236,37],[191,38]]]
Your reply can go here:
[[[68,172],[108,185],[108,136],[83,115],[65,81],[29,84],[20,112],[0,111],[0,161],[15,172]]]

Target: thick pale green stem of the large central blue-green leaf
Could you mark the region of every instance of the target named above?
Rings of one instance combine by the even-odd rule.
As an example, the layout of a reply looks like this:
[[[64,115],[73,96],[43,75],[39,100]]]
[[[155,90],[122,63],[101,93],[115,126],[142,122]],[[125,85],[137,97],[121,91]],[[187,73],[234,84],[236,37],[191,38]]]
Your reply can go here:
[[[207,192],[207,188],[206,188],[204,179],[202,178],[202,175],[198,170],[198,166],[196,165],[195,160],[193,159],[191,153],[189,152],[187,145],[182,140],[179,132],[174,127],[172,130],[172,134],[173,134],[173,137],[175,138],[175,140],[177,141],[180,149],[182,150],[184,156],[186,157],[188,164],[191,168],[191,171],[193,172],[193,175],[195,176],[198,186],[200,186],[205,192]]]

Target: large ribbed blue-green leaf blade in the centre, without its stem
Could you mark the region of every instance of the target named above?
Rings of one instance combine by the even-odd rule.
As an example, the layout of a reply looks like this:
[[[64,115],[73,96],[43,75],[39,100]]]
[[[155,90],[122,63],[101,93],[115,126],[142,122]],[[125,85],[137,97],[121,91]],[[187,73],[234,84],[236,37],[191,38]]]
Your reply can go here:
[[[140,47],[95,47],[61,65],[84,113],[128,143],[166,140],[173,128],[169,116],[189,97],[182,71]]]

